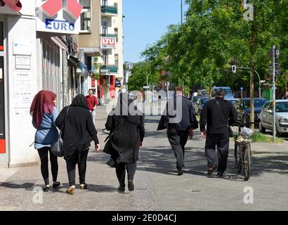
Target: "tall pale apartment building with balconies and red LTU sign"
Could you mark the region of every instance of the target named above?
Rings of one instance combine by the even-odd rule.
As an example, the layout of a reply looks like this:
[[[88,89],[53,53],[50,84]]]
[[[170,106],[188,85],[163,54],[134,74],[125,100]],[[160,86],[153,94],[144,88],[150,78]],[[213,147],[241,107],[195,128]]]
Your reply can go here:
[[[100,49],[101,77],[98,96],[101,103],[117,98],[123,84],[122,0],[101,0]]]

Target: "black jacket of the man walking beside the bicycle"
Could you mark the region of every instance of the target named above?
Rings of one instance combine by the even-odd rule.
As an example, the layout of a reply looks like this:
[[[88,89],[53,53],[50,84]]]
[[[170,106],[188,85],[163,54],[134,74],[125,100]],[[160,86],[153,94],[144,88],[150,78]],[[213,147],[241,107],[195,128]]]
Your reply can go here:
[[[218,103],[217,103],[218,101]],[[237,120],[235,107],[223,98],[214,98],[205,103],[200,115],[200,130],[208,134],[228,134],[228,124],[232,125]]]

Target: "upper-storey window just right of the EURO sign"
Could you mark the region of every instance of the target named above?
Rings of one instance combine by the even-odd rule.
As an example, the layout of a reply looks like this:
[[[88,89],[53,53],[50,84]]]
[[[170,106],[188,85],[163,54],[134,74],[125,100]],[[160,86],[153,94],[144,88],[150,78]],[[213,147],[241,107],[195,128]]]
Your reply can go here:
[[[81,32],[91,32],[91,0],[80,0],[80,4],[83,6],[80,15]]]

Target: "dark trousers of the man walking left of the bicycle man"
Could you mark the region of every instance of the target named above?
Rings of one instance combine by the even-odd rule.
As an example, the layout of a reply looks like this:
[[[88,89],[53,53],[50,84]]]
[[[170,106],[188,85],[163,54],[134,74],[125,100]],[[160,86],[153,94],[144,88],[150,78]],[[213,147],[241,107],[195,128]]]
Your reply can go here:
[[[167,131],[167,136],[176,157],[176,168],[183,169],[185,144],[188,140],[189,131],[177,131],[174,128],[169,128]]]

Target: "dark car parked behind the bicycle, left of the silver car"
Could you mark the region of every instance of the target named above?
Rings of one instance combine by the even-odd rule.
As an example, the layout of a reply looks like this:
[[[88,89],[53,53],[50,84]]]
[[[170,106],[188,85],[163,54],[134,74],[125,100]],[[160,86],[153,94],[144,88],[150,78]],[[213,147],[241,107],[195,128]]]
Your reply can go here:
[[[259,118],[258,114],[261,112],[263,105],[267,102],[265,98],[254,98],[254,122],[258,126]],[[237,110],[237,122],[243,122],[246,124],[250,120],[250,98],[242,98],[235,103]]]

